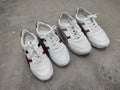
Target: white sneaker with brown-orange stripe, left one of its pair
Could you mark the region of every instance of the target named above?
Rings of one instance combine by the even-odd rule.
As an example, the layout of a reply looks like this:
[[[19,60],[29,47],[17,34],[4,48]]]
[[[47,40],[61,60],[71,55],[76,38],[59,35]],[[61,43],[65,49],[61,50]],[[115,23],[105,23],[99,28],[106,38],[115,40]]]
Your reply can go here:
[[[78,55],[85,55],[91,51],[91,45],[81,31],[76,20],[67,13],[62,13],[58,19],[60,33],[66,39],[68,47]]]

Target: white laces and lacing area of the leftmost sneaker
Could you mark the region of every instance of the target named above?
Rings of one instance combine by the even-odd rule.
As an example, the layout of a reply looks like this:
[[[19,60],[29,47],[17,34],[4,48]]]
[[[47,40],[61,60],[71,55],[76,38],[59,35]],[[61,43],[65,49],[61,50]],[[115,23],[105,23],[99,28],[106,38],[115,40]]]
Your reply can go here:
[[[35,64],[40,63],[41,60],[44,59],[42,52],[40,52],[40,49],[36,44],[29,42],[27,46],[27,50],[28,50],[29,58],[34,58],[33,62]]]

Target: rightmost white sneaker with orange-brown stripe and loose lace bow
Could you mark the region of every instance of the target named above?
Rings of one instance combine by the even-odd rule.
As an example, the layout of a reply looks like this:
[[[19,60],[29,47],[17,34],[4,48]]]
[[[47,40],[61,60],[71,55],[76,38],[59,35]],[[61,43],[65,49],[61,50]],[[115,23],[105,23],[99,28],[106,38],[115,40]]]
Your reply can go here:
[[[84,9],[77,9],[75,17],[94,47],[105,48],[110,44],[108,36],[95,20],[96,15]]]

